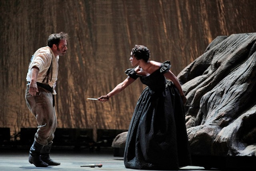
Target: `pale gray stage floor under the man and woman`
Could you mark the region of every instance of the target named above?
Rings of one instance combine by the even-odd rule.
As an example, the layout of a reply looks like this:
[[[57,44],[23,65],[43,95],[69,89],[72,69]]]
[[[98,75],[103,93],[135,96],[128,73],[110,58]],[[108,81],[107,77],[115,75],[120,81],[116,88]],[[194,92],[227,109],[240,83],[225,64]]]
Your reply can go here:
[[[114,157],[112,149],[101,149],[100,151],[90,151],[89,149],[82,150],[67,150],[58,149],[52,150],[51,158],[61,162],[59,166],[49,166],[46,168],[35,167],[28,162],[28,149],[0,149],[0,170],[84,170],[84,171],[123,171],[134,170],[127,169],[123,164],[123,157]],[[81,167],[83,164],[102,164],[98,167]],[[206,170],[204,167],[187,166],[180,170]],[[218,170],[212,168],[211,170]]]

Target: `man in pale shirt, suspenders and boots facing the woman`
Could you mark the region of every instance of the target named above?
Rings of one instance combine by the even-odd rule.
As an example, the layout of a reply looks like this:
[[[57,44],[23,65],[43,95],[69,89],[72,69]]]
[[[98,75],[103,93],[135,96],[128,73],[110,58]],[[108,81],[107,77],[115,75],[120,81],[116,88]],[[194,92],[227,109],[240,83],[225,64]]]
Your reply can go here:
[[[29,162],[36,167],[60,165],[49,154],[57,127],[54,95],[58,77],[58,60],[67,51],[68,34],[52,34],[47,46],[39,48],[31,58],[27,74],[26,103],[36,117],[38,129],[30,148]]]

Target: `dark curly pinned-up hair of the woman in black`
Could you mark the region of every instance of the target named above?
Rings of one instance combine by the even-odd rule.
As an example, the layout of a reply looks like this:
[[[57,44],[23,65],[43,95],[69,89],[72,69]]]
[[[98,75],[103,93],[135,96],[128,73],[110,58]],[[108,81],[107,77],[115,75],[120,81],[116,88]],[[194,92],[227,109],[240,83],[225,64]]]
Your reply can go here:
[[[142,59],[147,62],[148,59],[150,58],[150,51],[146,46],[135,45],[132,48],[132,55],[134,55],[137,60]]]

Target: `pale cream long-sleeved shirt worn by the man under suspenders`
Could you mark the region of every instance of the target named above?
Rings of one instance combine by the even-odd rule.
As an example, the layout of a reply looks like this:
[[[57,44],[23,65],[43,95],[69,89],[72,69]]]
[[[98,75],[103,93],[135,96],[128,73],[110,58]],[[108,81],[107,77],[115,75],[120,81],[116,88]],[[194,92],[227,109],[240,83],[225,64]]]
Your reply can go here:
[[[47,76],[47,71],[52,63],[52,71],[49,73],[48,84],[53,88],[53,94],[56,94],[55,86],[59,69],[58,61],[59,56],[55,56],[49,46],[39,48],[31,58],[27,74],[27,82],[31,82],[31,69],[33,67],[37,67],[39,72],[36,82],[43,83],[44,78]],[[47,83],[47,80],[45,80],[44,83]]]

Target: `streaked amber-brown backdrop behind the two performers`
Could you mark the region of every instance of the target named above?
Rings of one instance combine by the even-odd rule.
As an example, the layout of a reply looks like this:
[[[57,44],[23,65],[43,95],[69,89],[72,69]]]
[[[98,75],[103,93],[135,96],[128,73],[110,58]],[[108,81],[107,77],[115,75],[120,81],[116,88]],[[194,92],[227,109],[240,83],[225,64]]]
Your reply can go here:
[[[217,36],[254,32],[255,0],[0,0],[0,127],[36,127],[25,103],[31,54],[53,32],[70,35],[59,60],[59,128],[127,129],[145,87],[137,80],[109,103],[86,100],[126,78],[134,44],[170,60],[175,75]]]

